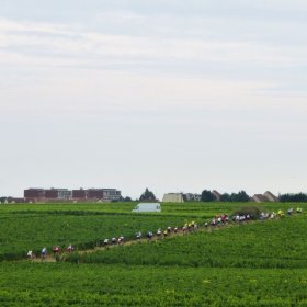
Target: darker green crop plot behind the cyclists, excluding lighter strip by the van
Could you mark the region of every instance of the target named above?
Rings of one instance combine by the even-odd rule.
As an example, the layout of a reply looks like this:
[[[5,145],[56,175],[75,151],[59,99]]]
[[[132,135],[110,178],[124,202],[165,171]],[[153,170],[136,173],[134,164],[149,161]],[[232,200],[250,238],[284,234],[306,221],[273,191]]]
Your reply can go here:
[[[0,216],[0,260],[24,258],[27,250],[48,250],[70,243],[78,249],[91,249],[103,239],[120,237],[133,239],[136,230],[144,234],[159,227],[181,225],[182,216],[161,216],[132,213],[101,213],[86,211],[55,211],[42,214],[14,213]]]

